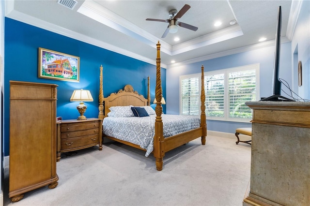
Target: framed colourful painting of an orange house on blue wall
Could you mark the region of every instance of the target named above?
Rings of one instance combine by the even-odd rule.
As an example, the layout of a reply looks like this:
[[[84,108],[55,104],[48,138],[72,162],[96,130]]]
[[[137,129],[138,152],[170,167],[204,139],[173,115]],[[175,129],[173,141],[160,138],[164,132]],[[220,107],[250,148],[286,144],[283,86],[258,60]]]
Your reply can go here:
[[[79,82],[79,57],[39,48],[38,77]]]

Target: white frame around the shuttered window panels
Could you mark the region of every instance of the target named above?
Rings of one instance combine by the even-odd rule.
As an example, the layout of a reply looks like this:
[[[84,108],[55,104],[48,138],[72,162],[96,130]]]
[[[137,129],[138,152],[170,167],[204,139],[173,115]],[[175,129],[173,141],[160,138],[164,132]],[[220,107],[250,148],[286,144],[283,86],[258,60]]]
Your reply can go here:
[[[240,67],[233,67],[221,70],[214,70],[214,71],[207,71],[204,72],[204,76],[215,75],[215,74],[224,74],[224,117],[210,117],[207,116],[208,120],[218,120],[218,121],[233,121],[233,122],[249,122],[252,118],[230,118],[229,117],[229,74],[233,72],[241,72],[241,71],[248,71],[248,70],[255,70],[255,90],[256,90],[256,100],[260,100],[260,64],[250,64]],[[199,114],[201,114],[201,73],[197,74],[188,74],[180,76],[180,113],[182,114],[182,79],[188,78],[198,78],[199,81]]]

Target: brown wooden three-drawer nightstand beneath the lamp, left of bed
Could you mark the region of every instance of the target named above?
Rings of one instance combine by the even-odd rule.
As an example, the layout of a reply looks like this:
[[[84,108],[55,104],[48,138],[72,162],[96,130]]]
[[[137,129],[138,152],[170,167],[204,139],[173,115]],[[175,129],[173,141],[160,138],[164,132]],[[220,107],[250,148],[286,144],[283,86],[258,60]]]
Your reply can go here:
[[[68,119],[57,123],[57,162],[61,159],[61,152],[97,144],[99,144],[99,150],[102,150],[102,119]]]

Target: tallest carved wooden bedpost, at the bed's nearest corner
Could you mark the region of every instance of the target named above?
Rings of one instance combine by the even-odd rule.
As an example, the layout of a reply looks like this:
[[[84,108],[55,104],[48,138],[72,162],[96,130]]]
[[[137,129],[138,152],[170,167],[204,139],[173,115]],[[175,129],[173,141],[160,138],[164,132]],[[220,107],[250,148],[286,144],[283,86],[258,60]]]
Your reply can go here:
[[[163,136],[163,122],[161,114],[163,108],[161,106],[162,88],[160,80],[160,44],[157,45],[157,58],[156,58],[156,88],[155,88],[155,99],[156,99],[156,119],[155,119],[155,136],[154,136],[154,157],[156,160],[156,169],[161,171],[163,168],[163,157],[165,156],[164,147],[164,136]]]

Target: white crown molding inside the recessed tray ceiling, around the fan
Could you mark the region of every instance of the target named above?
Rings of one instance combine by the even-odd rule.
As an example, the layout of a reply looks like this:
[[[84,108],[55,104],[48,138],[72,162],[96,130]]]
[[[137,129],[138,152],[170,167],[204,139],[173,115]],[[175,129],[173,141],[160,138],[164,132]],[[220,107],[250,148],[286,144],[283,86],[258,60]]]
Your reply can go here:
[[[144,44],[156,48],[154,42],[158,41],[157,37],[150,34],[149,32],[146,32],[140,27],[137,27],[123,17],[116,15],[114,12],[106,9],[105,7],[101,6],[93,0],[84,1],[78,9],[78,13],[86,15],[112,29],[122,32],[127,36],[135,38]],[[220,29],[210,34],[206,34],[204,36],[186,41],[184,43],[176,44],[174,46],[161,40],[160,51],[170,56],[173,56],[190,51],[192,49],[200,48],[202,46],[210,44],[215,44],[241,35],[243,35],[243,32],[240,26],[233,25],[228,28]]]

